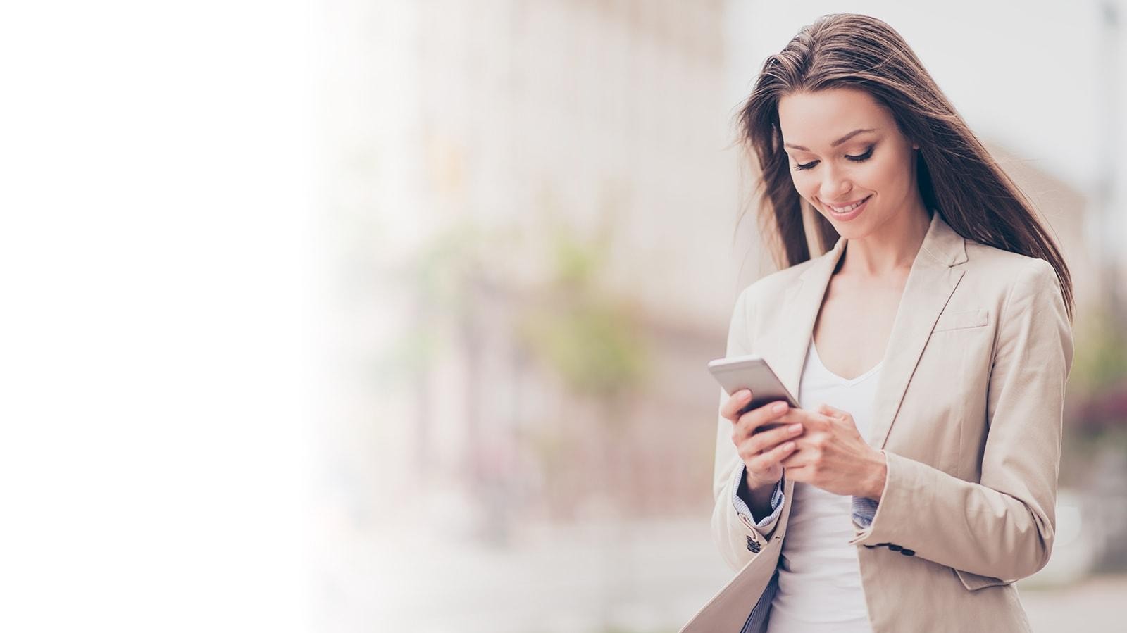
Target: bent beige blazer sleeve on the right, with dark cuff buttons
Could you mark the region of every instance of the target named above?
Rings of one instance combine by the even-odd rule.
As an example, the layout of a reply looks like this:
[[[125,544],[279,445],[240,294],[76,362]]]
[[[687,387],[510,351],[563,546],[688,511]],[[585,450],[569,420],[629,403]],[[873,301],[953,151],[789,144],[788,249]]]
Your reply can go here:
[[[884,451],[885,488],[851,544],[898,544],[956,570],[1012,582],[1048,563],[1056,528],[1072,327],[1056,273],[1037,259],[1001,309],[979,482]]]

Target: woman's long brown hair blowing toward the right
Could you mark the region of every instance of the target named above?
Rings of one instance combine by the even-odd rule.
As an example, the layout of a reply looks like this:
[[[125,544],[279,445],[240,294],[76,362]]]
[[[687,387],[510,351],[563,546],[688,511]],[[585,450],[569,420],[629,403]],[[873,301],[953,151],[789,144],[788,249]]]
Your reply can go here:
[[[838,238],[828,220],[799,196],[782,151],[779,100],[829,88],[867,91],[887,107],[900,133],[920,144],[916,182],[926,208],[966,239],[1029,257],[1056,269],[1072,316],[1072,277],[1032,203],[999,167],[900,35],[884,21],[831,14],[804,27],[767,57],[737,115],[739,141],[758,159],[760,224],[778,240],[780,266],[810,258],[804,216],[823,250]]]

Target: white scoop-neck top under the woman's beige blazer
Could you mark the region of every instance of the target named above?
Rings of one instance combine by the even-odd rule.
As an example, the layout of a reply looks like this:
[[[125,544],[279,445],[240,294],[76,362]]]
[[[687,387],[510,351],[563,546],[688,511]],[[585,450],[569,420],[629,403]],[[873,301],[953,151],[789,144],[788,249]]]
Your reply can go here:
[[[798,402],[848,411],[868,438],[881,365],[845,380],[822,364],[811,337]],[[796,481],[767,633],[872,632],[852,538],[852,497]]]

